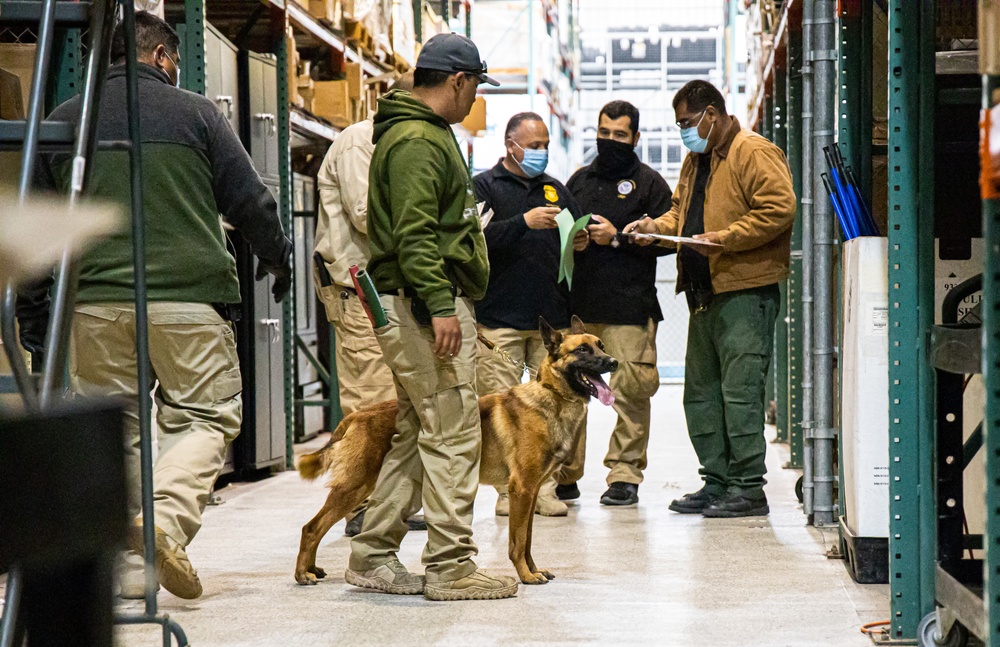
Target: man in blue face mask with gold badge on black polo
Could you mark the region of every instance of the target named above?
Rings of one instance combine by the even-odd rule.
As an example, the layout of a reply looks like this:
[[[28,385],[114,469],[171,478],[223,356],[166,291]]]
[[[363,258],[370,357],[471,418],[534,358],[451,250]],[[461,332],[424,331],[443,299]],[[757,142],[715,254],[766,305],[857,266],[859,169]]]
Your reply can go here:
[[[489,171],[477,175],[476,200],[493,217],[483,229],[490,259],[486,296],[476,304],[479,332],[518,362],[537,369],[545,358],[538,318],[553,327],[569,328],[569,289],[559,277],[559,230],[556,216],[569,209],[583,214],[568,189],[545,173],[549,131],[541,116],[522,112],[511,117],[504,133],[507,155]],[[577,249],[586,247],[581,232]],[[519,384],[522,371],[485,346],[476,362],[480,395],[506,391]],[[566,504],[555,495],[555,481],[542,485],[535,511],[564,516]],[[496,513],[508,512],[506,489],[499,489]]]

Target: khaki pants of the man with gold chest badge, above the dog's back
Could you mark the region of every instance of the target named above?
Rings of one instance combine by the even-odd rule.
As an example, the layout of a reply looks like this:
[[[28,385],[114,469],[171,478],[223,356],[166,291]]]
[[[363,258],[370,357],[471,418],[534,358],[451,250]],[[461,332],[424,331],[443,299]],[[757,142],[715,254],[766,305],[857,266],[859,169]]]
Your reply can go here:
[[[542,342],[542,334],[537,330],[480,326],[479,332],[515,361],[527,364],[536,371],[545,359],[545,344]],[[479,348],[479,355],[476,357],[476,390],[479,395],[502,393],[521,383],[523,370],[518,370],[485,344],[476,342],[476,346]]]

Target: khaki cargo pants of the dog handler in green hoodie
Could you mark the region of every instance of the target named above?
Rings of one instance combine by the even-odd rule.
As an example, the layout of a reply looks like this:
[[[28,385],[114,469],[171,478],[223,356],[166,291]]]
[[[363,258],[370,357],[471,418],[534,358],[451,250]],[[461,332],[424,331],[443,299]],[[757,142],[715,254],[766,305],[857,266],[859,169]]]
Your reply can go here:
[[[472,302],[455,301],[462,349],[434,356],[434,332],[417,324],[412,301],[382,296],[388,325],[375,331],[399,400],[397,435],[369,499],[364,527],[351,543],[350,568],[392,560],[420,506],[427,522],[423,564],[429,582],[471,575],[478,550],[472,507],[479,488],[482,432],[476,398],[476,318]]]

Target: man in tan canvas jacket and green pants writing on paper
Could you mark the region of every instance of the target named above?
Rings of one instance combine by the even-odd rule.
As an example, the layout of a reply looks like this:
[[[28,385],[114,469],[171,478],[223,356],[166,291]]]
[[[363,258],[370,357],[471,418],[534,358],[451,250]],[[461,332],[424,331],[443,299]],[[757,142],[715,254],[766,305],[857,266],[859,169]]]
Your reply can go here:
[[[677,291],[691,311],[684,413],[705,485],[670,509],[706,517],[767,514],[764,384],[778,283],[788,276],[791,174],[777,146],[726,114],[710,83],[691,81],[673,105],[691,154],[670,211],[630,227],[718,246],[682,245],[677,254]]]

